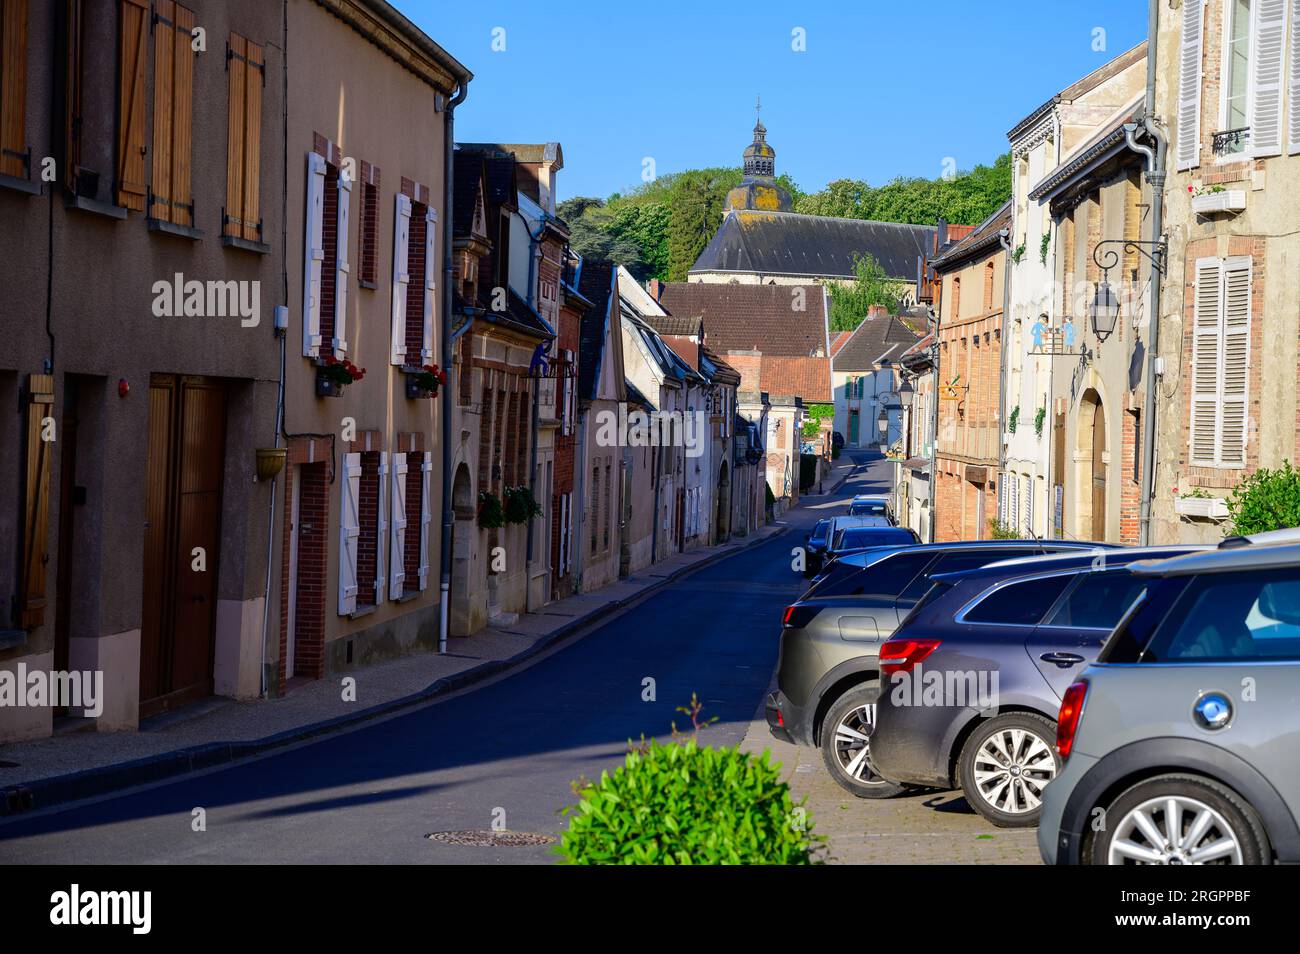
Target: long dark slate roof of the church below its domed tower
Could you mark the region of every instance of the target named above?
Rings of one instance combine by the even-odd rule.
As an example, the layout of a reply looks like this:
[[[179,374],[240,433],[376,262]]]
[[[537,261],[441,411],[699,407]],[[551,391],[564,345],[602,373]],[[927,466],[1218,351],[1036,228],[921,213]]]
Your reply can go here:
[[[871,253],[890,278],[915,282],[916,256],[933,248],[933,235],[930,225],[734,209],[690,272],[852,278],[854,259]]]

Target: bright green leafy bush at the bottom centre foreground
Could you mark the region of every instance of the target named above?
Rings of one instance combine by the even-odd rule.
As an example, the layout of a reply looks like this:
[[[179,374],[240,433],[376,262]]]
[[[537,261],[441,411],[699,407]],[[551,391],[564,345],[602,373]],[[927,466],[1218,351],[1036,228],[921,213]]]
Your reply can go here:
[[[814,864],[820,838],[764,751],[650,742],[580,788],[569,864]]]

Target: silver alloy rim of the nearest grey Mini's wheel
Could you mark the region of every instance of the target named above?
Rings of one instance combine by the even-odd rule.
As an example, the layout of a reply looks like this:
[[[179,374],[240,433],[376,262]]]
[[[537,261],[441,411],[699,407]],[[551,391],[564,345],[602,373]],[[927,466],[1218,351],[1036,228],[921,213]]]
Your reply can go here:
[[[1242,841],[1223,815],[1188,795],[1149,798],[1119,820],[1110,864],[1243,864]]]

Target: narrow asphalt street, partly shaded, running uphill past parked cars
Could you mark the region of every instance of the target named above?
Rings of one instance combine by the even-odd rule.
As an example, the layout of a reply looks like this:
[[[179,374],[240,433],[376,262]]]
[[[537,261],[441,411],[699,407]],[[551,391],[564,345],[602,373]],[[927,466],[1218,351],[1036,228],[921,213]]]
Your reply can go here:
[[[429,833],[556,836],[571,780],[667,737],[697,693],[705,738],[737,745],[771,681],[781,608],[802,589],[798,533],[881,491],[870,460],[792,532],[668,586],[532,665],[459,695],[229,768],[0,824],[4,863],[549,862],[549,846],[471,847]],[[642,695],[654,680],[654,701]],[[205,831],[194,831],[202,808]]]

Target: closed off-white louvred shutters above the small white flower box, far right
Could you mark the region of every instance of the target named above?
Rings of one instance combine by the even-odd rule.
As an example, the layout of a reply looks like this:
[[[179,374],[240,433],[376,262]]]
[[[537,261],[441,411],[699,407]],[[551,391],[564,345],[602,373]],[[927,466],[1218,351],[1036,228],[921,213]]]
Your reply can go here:
[[[1252,263],[1199,259],[1192,317],[1190,460],[1245,467]]]

